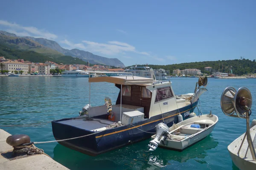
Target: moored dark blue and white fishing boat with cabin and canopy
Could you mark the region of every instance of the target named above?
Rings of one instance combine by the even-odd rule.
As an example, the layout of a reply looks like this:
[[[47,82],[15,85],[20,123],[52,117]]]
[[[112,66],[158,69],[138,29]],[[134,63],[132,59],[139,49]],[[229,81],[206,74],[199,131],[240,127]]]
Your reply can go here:
[[[53,135],[60,144],[91,156],[148,139],[157,124],[171,127],[179,114],[189,118],[199,96],[207,91],[196,86],[196,93],[175,95],[169,81],[136,76],[89,78],[90,84],[96,82],[115,84],[119,90],[116,105],[105,99],[105,105],[92,107],[89,95],[80,116],[52,121]]]

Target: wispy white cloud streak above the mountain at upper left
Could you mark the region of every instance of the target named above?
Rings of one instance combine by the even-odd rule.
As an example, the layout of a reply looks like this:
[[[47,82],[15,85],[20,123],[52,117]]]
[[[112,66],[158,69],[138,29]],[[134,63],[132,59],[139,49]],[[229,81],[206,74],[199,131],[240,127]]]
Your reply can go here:
[[[46,38],[49,40],[55,40],[58,36],[52,33],[49,33],[45,30],[39,30],[35,27],[24,27],[16,23],[9,23],[8,21],[0,20],[0,25],[9,27],[8,31],[17,36],[33,36],[36,38]],[[7,30],[6,30],[7,31]]]

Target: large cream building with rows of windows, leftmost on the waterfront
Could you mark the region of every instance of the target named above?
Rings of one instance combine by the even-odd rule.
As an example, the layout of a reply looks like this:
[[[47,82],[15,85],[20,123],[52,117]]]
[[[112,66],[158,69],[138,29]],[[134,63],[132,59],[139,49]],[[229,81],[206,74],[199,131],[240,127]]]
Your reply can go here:
[[[10,72],[15,72],[15,71],[23,71],[24,74],[29,73],[29,65],[23,62],[17,62],[16,61],[6,61],[3,62],[3,64],[5,65],[4,69],[8,70]]]

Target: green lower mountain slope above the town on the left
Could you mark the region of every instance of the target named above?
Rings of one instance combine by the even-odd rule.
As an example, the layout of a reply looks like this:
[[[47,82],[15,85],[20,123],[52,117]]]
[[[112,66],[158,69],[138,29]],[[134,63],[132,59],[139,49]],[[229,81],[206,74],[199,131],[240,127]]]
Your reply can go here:
[[[0,56],[4,56],[7,59],[24,59],[31,62],[46,62],[46,61],[52,61],[56,63],[63,63],[63,64],[84,64],[87,65],[87,62],[79,59],[74,58],[71,56],[58,56],[55,57],[55,55],[46,55],[37,53],[35,51],[29,51],[29,50],[21,50],[16,49],[12,45],[7,44],[1,44],[0,43]]]

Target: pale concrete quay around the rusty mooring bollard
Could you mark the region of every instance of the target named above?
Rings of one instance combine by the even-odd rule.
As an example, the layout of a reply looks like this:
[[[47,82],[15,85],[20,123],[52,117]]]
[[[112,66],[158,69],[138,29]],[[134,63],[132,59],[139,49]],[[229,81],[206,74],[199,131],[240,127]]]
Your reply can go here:
[[[0,170],[69,170],[46,155],[12,157],[13,147],[6,143],[10,133],[0,129]]]

